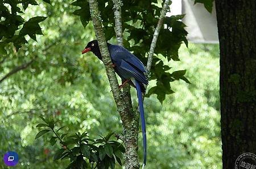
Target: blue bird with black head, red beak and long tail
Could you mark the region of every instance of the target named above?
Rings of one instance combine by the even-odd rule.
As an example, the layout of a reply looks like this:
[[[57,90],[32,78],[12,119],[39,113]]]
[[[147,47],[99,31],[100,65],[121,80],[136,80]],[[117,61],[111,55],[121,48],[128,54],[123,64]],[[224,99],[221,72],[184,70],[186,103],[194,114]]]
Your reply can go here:
[[[134,56],[134,54],[130,53],[129,50],[119,45],[112,45],[109,43],[107,44],[115,73],[117,73],[119,77],[122,79],[122,84],[119,86],[119,88],[122,88],[126,83],[129,83],[131,86],[137,89],[139,112],[141,115],[141,126],[143,134],[144,166],[146,165],[147,156],[147,136],[142,93],[145,92],[145,87],[143,84],[148,84],[147,78],[144,75],[144,73],[146,73],[147,70],[145,69],[145,66],[142,64],[142,62],[136,56]],[[102,61],[102,56],[100,48],[98,47],[97,40],[90,41],[86,45],[85,49],[82,50],[82,54],[89,51],[93,52]]]

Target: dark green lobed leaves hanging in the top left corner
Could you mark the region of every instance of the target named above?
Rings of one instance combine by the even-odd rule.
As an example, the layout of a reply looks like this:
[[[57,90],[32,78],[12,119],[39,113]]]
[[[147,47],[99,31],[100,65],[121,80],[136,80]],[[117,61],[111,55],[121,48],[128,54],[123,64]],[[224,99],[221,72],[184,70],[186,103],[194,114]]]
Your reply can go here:
[[[20,9],[20,3],[23,10]],[[8,5],[10,8],[8,8]],[[35,0],[2,0],[0,3],[0,54],[6,54],[5,46],[9,43],[13,43],[16,50],[19,50],[22,44],[27,43],[24,38],[25,35],[29,35],[35,41],[36,35],[43,35],[38,23],[45,20],[46,17],[36,16],[26,22],[20,15],[23,11],[26,11],[28,5],[38,5],[38,3]]]

